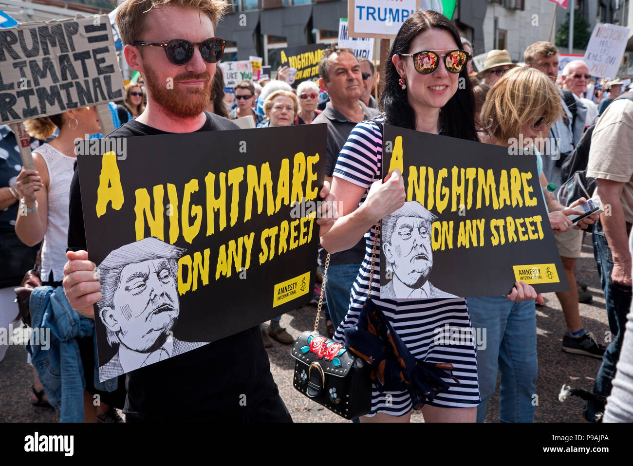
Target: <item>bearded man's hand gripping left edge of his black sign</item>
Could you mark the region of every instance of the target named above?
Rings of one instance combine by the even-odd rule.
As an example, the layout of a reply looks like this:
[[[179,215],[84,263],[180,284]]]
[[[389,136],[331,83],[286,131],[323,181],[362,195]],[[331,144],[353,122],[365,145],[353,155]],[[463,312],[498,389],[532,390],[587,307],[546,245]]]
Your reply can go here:
[[[94,304],[101,299],[101,284],[94,262],[87,251],[68,251],[64,266],[64,293],[73,309],[85,317],[94,318]]]

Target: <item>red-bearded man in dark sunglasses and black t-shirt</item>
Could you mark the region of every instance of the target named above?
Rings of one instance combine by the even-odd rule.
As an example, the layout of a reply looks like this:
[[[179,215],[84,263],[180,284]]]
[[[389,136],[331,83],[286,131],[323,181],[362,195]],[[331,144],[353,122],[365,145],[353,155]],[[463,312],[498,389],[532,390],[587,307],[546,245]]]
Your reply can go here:
[[[214,37],[215,27],[226,9],[224,0],[126,0],[120,5],[116,23],[126,44],[123,52],[130,68],[145,79],[147,107],[137,120],[110,136],[238,129],[229,120],[204,111],[225,44]],[[94,317],[100,285],[85,249],[75,171],[64,289],[73,308]],[[127,375],[126,386],[123,412],[128,422],[292,420],[270,373],[259,326],[134,370]]]

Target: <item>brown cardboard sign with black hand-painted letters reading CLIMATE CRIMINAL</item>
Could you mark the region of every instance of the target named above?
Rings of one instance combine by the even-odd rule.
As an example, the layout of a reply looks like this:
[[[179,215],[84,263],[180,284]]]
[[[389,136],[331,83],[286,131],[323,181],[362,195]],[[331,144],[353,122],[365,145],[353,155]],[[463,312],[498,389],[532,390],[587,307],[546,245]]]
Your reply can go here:
[[[107,15],[0,29],[0,124],[123,97]]]

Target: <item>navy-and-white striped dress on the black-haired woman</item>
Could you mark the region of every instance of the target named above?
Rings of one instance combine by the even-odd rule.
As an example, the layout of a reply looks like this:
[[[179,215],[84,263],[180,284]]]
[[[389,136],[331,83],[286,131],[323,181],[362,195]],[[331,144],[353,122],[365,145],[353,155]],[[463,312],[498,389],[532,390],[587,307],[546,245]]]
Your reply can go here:
[[[373,182],[381,178],[381,160],[382,134],[379,126],[371,120],[358,123],[341,149],[334,168],[334,176],[369,189]],[[361,204],[366,197],[367,192],[363,194]],[[365,259],[351,290],[348,314],[334,336],[336,341],[343,342],[344,329],[356,325],[363,303],[367,299],[373,235],[374,228],[372,227],[365,234],[367,241]],[[439,337],[444,336],[447,328],[457,331],[457,329],[470,327],[466,299],[380,299],[379,268],[380,238],[376,247],[372,301],[384,312],[415,358],[428,362],[453,364],[453,375],[460,381],[457,384],[452,379],[444,379],[450,385],[449,390],[436,396],[435,400],[429,404],[444,408],[472,408],[479,405],[474,343],[440,344],[448,343],[449,338],[448,334],[445,335],[445,340]],[[464,333],[465,331],[460,331],[460,334]],[[373,386],[370,416],[379,412],[399,416],[410,410],[411,400],[407,392],[381,392],[376,385]]]

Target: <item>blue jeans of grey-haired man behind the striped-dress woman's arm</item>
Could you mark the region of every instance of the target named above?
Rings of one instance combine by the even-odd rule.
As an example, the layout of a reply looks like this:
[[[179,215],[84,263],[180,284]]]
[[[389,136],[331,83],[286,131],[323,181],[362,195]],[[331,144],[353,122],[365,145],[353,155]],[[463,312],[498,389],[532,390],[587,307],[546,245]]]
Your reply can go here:
[[[334,329],[341,324],[348,313],[349,297],[352,293],[354,280],[358,277],[361,263],[330,265],[327,268],[325,282],[325,302],[330,313]],[[325,270],[321,267],[321,272]]]

